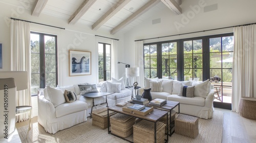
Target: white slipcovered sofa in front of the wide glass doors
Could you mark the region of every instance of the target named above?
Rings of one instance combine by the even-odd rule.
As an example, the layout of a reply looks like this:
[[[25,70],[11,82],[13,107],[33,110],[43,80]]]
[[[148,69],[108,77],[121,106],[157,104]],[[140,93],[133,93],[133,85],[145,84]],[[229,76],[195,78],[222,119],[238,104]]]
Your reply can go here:
[[[160,81],[162,82],[162,85]],[[156,82],[158,83],[157,86],[155,84]],[[179,96],[181,84],[190,87],[195,86],[194,97]],[[180,113],[205,119],[212,118],[212,113],[214,112],[214,89],[211,88],[209,80],[196,82],[145,78],[145,87],[139,89],[139,94],[142,94],[144,91],[143,89],[147,88],[153,89],[151,90],[153,99],[159,98],[167,101],[180,102]],[[178,111],[177,107],[175,110]]]

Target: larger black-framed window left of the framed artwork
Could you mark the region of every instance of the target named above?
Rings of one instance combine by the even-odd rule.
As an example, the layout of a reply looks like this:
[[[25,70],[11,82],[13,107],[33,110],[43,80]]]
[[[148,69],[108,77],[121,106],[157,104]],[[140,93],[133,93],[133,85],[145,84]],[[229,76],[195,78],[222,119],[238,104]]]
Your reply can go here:
[[[57,36],[30,33],[31,47],[31,94],[39,88],[57,85]]]

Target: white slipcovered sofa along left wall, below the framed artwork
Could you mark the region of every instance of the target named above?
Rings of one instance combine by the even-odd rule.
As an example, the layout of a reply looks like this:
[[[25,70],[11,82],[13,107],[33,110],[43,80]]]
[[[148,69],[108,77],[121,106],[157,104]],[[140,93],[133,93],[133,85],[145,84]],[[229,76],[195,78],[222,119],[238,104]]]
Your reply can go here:
[[[85,83],[89,84],[89,83]],[[85,85],[83,84],[83,85]],[[38,90],[38,123],[45,128],[49,133],[56,133],[59,130],[70,128],[76,124],[87,121],[87,116],[90,116],[91,107],[93,106],[92,98],[86,98],[80,95],[79,84],[52,88],[47,86],[45,89]],[[99,91],[105,91],[106,83],[99,83],[97,86]],[[52,97],[49,96],[49,90]],[[77,100],[72,103],[67,103],[63,92],[65,90],[76,93]],[[109,106],[120,102],[131,100],[131,89],[123,89],[120,92],[115,92],[107,96]],[[55,100],[54,100],[55,98]],[[99,104],[105,102],[105,97],[94,99],[94,103]],[[106,106],[105,104],[101,106]]]

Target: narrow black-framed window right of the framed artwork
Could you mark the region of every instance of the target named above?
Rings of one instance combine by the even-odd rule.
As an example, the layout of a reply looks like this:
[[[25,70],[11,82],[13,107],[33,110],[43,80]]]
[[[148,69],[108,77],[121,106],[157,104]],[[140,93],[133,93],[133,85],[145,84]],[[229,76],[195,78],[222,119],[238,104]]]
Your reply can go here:
[[[98,43],[99,82],[111,80],[111,44]]]

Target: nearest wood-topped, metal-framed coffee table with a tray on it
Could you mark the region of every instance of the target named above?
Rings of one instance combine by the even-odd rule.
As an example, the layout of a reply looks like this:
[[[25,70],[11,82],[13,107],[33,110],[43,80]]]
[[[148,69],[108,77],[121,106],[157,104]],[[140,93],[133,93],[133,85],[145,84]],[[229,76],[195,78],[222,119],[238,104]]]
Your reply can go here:
[[[123,107],[129,107],[129,106],[132,106],[133,104],[131,103],[127,103],[125,106]],[[121,114],[125,114],[125,115],[130,115],[130,116],[133,116],[133,117],[137,117],[137,118],[140,118],[142,120],[146,120],[146,121],[150,121],[150,122],[153,122],[155,124],[155,128],[154,128],[154,131],[155,131],[155,142],[157,140],[157,137],[156,137],[156,131],[157,131],[157,127],[156,127],[156,124],[157,122],[164,116],[166,116],[166,127],[167,127],[167,130],[168,130],[168,111],[164,111],[164,110],[159,110],[159,109],[154,109],[154,111],[152,111],[150,114],[147,114],[145,116],[142,116],[142,115],[137,115],[137,114],[133,114],[133,113],[130,113],[130,112],[124,112],[122,111],[122,107],[120,106],[111,106],[111,107],[108,107],[108,132],[109,134],[111,134],[111,130],[110,130],[110,116],[109,116],[109,111],[114,111],[114,112],[117,112],[117,113],[121,113]],[[115,134],[113,134],[115,135]],[[115,135],[117,136],[117,135]],[[118,136],[120,137],[120,136]],[[132,142],[131,140],[127,140],[123,137],[120,137],[126,141],[129,141],[129,142]],[[167,135],[167,139],[164,139],[165,142],[168,142],[168,135]]]

